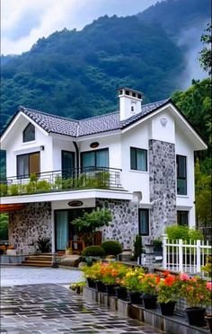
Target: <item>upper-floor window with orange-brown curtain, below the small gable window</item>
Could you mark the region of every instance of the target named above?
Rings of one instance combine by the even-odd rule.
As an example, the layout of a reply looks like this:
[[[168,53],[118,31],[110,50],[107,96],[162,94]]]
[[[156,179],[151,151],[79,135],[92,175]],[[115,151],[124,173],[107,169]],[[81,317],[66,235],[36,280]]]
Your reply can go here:
[[[32,172],[40,173],[40,152],[17,155],[17,177],[27,178]]]

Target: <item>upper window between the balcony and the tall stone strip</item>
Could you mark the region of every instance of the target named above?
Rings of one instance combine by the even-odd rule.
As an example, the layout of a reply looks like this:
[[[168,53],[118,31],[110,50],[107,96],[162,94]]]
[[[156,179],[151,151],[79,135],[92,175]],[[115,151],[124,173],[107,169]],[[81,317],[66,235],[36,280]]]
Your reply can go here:
[[[130,169],[147,171],[147,151],[130,147]]]

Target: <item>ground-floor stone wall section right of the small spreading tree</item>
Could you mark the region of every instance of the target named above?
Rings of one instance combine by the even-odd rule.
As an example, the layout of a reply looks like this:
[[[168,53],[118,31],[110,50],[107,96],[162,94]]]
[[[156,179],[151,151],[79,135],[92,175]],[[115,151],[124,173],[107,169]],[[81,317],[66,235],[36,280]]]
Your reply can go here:
[[[102,240],[117,240],[123,249],[134,250],[138,233],[137,205],[128,200],[97,198],[102,208],[110,209],[112,222],[102,228]]]

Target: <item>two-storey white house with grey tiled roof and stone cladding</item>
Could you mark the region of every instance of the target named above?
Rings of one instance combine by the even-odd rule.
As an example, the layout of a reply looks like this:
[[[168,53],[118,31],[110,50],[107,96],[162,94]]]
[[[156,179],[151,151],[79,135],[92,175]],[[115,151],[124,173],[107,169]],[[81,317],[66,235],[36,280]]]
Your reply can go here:
[[[167,225],[195,225],[194,151],[207,145],[171,100],[142,105],[141,92],[120,88],[119,111],[82,120],[20,107],[1,148],[1,206],[13,205],[9,238],[24,253],[41,236],[51,237],[52,251],[65,250],[73,219],[96,207],[113,215],[102,238],[125,249],[137,233],[148,240]]]

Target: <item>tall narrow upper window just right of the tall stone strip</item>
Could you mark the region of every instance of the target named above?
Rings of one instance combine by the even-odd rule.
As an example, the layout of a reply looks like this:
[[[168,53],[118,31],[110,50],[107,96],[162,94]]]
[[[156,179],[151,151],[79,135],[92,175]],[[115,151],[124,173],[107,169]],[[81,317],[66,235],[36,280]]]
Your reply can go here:
[[[187,195],[186,156],[177,155],[177,194]]]

